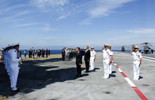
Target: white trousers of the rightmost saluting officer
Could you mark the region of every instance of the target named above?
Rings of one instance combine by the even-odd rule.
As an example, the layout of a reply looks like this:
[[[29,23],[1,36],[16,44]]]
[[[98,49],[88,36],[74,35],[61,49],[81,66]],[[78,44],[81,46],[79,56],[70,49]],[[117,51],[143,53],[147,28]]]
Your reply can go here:
[[[134,61],[133,62],[133,75],[134,75],[134,79],[138,80],[139,79],[139,72],[140,72],[140,61]]]

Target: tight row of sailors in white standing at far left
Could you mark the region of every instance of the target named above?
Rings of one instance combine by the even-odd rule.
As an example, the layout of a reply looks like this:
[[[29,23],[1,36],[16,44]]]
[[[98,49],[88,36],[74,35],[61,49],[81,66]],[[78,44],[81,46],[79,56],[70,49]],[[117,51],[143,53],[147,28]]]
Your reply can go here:
[[[6,72],[10,78],[11,90],[18,92],[16,87],[18,73],[20,69],[21,57],[19,55],[19,44],[8,45],[3,51],[3,62],[5,64]]]

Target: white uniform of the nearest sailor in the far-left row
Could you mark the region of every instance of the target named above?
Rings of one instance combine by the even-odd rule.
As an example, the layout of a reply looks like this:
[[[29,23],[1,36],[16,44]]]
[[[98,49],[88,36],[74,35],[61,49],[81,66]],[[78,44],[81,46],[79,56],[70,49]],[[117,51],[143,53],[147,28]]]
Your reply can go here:
[[[10,70],[11,70],[11,88],[12,90],[17,90],[17,79],[18,79],[18,73],[19,73],[19,61],[21,60],[21,57],[17,58],[17,50],[13,49],[11,52],[11,63],[10,63]]]

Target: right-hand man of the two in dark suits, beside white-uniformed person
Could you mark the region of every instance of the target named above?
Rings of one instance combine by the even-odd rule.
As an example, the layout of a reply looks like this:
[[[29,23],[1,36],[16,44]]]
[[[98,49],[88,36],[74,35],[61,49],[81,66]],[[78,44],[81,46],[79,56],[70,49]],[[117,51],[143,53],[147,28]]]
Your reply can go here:
[[[89,46],[86,46],[85,48],[85,56],[84,56],[84,60],[85,60],[85,65],[86,65],[86,72],[89,72],[89,61],[90,61],[90,50],[89,50]]]

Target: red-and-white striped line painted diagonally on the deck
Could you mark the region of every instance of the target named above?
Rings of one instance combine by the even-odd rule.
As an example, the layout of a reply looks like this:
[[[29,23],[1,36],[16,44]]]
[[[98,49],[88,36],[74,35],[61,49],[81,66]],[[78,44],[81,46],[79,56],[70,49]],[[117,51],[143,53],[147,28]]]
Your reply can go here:
[[[137,93],[137,95],[142,99],[142,100],[148,100],[145,95],[136,87],[136,85],[124,74],[124,72],[117,66],[115,62],[113,64],[116,66],[118,71],[124,76],[125,80],[129,83],[129,85],[134,89],[134,91]]]

